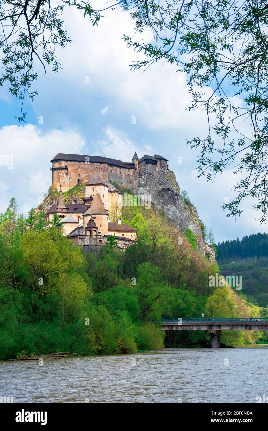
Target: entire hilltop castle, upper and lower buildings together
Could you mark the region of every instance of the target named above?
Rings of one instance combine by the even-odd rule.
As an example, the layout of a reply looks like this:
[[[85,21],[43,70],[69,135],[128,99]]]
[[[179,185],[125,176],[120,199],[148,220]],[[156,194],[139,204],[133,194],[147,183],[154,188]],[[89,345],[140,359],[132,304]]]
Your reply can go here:
[[[59,153],[51,162],[51,188],[59,191],[59,200],[46,212],[48,222],[57,214],[64,235],[83,246],[103,246],[111,235],[120,240],[121,248],[135,242],[135,229],[121,222],[122,193],[111,181],[137,193],[143,166],[151,164],[157,170],[168,169],[168,160],[157,154],[145,154],[139,159],[135,153],[132,162],[124,163],[101,156]],[[65,205],[62,192],[77,184],[85,184],[84,203]]]

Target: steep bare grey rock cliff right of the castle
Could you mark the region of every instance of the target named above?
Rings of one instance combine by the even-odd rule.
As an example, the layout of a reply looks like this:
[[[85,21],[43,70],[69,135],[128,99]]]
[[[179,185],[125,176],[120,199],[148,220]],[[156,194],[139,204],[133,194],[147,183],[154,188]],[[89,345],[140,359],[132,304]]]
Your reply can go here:
[[[205,256],[207,252],[210,259],[215,260],[213,249],[204,243],[197,210],[182,200],[174,172],[162,168],[156,170],[152,165],[145,165],[139,172],[139,194],[151,195],[155,209],[164,209],[180,232],[183,233],[186,228],[191,229],[200,253]]]

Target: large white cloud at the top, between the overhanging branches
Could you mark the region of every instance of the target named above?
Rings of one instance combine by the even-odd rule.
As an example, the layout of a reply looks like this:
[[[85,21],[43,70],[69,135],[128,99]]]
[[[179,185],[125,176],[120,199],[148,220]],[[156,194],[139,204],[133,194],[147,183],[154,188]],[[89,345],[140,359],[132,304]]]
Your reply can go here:
[[[204,112],[186,110],[185,101],[190,97],[185,73],[176,72],[176,66],[160,63],[146,71],[129,72],[133,60],[143,58],[123,41],[123,34],[134,33],[134,21],[120,9],[106,11],[105,15],[98,27],[92,27],[83,15],[66,9],[65,27],[72,42],[59,52],[63,69],[57,79],[89,98],[113,98],[120,112],[129,114],[129,121],[136,116],[137,124],[149,130],[182,131],[193,123],[202,129]],[[145,30],[143,38],[148,41],[151,35]],[[89,41],[86,49],[81,41]],[[89,85],[85,84],[85,76],[89,76]]]

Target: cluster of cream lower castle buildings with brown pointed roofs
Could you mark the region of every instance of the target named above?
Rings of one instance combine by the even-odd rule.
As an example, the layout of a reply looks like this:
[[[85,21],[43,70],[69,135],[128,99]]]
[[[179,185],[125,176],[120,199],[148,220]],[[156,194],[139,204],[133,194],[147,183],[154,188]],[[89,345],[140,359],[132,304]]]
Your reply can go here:
[[[59,200],[46,212],[48,222],[52,222],[54,214],[58,215],[63,234],[78,245],[103,246],[111,235],[125,243],[136,240],[135,229],[121,222],[122,194],[98,171],[86,182],[83,201],[65,205],[60,184]],[[111,221],[110,214],[116,222]]]

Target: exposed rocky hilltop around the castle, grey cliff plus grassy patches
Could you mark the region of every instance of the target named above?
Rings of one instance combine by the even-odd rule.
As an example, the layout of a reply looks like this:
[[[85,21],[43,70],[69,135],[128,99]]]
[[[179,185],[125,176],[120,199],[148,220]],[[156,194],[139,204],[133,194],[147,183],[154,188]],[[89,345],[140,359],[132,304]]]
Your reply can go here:
[[[133,195],[132,191],[121,184],[112,182],[115,187],[124,195]],[[150,196],[151,209],[146,209],[144,206],[134,207],[132,218],[140,212],[145,219],[148,219],[152,214],[164,212],[167,218],[179,230],[181,234],[186,229],[190,229],[194,235],[198,250],[203,256],[209,260],[216,262],[215,252],[213,247],[209,247],[206,243],[202,225],[195,206],[190,202],[183,200],[180,187],[176,180],[173,171],[169,169],[155,169],[153,165],[144,165],[139,171],[139,195]],[[85,182],[81,182],[70,190],[63,192],[65,204],[68,203],[83,203],[85,196]],[[53,204],[57,202],[59,192],[55,189],[49,189],[43,202],[38,206],[38,210],[46,212]],[[129,207],[123,206],[122,220],[132,221],[129,215]]]

